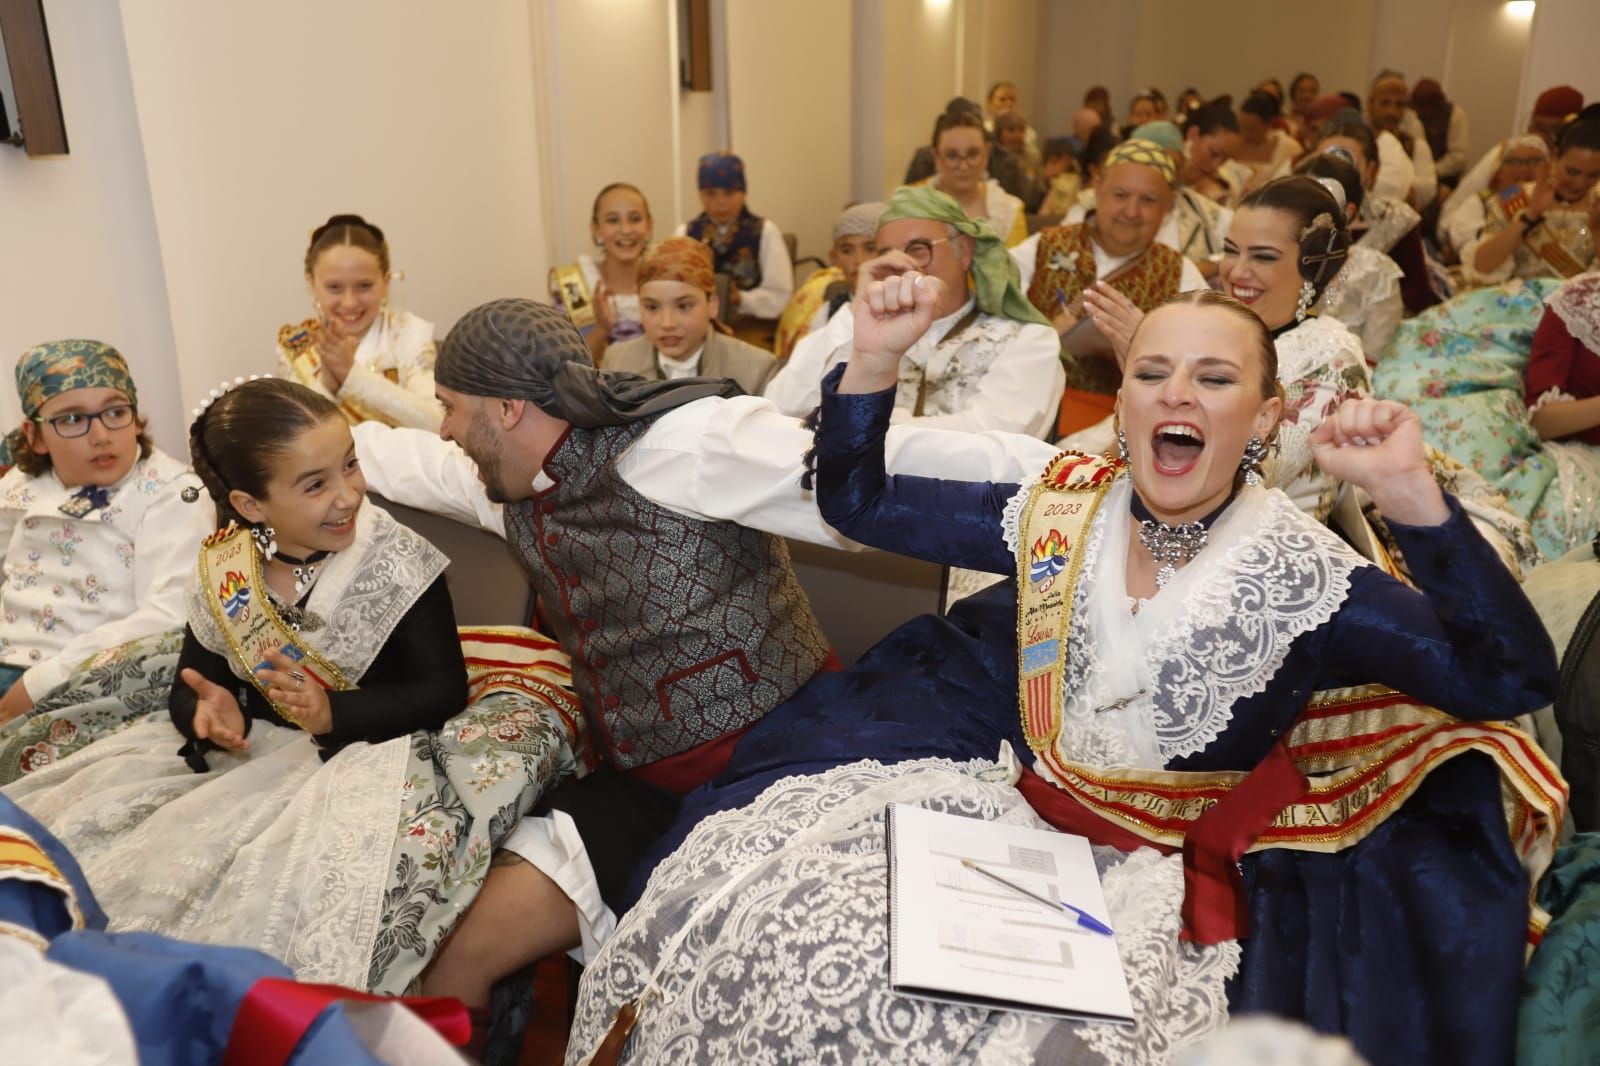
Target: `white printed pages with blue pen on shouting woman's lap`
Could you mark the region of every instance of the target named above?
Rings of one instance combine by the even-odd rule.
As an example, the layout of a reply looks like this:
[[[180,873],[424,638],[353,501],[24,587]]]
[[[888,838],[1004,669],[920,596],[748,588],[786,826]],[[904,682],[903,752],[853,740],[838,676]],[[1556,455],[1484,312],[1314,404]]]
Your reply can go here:
[[[1091,932],[962,866],[1110,924],[1090,842],[890,804],[890,984],[896,992],[1133,1024],[1115,935]]]

